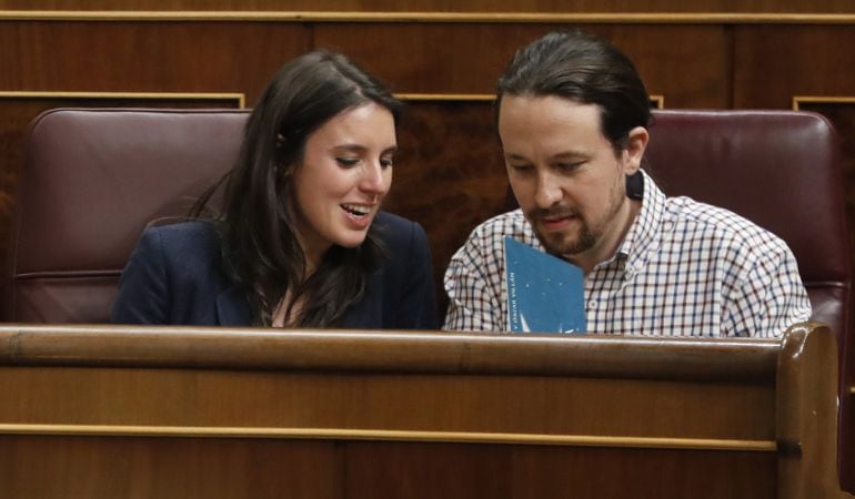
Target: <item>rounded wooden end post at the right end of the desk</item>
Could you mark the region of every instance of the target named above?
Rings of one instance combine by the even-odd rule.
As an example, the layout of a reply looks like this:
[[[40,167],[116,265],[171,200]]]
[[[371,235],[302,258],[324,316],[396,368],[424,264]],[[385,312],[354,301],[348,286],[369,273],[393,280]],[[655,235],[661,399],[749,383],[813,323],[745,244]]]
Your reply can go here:
[[[837,473],[837,343],[813,323],[793,326],[777,375],[778,491],[785,499],[852,497]]]

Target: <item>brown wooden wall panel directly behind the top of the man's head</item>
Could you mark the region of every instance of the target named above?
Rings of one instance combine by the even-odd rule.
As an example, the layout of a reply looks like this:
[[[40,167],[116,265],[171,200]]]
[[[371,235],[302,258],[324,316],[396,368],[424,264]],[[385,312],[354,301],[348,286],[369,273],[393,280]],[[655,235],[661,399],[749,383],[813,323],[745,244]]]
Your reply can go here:
[[[318,24],[318,47],[344,51],[399,92],[490,93],[515,51],[554,24]],[[721,26],[586,26],[634,60],[671,108],[730,108],[730,41]]]

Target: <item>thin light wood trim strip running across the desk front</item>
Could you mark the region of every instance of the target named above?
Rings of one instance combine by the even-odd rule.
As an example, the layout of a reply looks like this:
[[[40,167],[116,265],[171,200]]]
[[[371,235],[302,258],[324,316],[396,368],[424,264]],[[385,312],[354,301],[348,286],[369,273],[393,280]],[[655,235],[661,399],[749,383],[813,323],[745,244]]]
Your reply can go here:
[[[593,435],[491,434],[473,431],[401,431],[344,428],[241,428],[120,425],[0,425],[0,435],[90,435],[110,437],[304,438],[336,440],[443,441],[774,452],[774,440],[712,438],[602,437]]]

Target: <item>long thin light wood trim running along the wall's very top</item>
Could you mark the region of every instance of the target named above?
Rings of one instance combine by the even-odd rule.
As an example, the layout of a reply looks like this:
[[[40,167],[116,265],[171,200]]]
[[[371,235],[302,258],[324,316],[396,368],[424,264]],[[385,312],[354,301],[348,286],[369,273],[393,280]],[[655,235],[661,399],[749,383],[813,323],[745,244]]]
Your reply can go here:
[[[279,22],[481,22],[622,24],[853,24],[849,13],[561,13],[561,12],[279,12],[0,10],[0,21],[279,21]]]

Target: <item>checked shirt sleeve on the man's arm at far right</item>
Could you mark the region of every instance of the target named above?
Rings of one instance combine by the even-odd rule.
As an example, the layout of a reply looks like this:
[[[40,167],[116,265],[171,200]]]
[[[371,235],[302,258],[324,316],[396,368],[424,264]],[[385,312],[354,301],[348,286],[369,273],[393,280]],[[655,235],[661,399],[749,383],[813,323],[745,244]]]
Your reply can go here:
[[[773,338],[811,318],[795,256],[783,243],[756,258],[726,302],[724,336]]]

